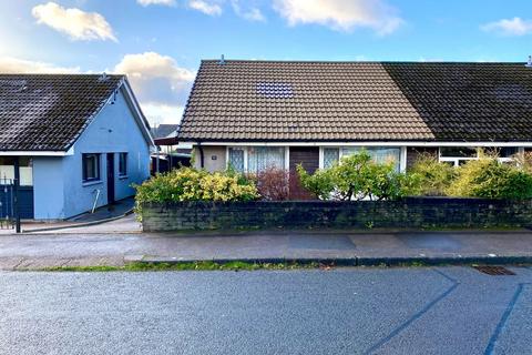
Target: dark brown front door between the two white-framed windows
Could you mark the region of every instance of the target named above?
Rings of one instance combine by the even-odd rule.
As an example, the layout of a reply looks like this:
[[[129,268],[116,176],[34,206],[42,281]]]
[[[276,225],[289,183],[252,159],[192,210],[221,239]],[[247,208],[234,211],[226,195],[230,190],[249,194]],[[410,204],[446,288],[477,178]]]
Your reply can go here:
[[[296,166],[301,164],[308,173],[314,173],[319,168],[319,148],[317,146],[290,146],[290,199],[313,200],[316,199],[306,191],[296,172]]]

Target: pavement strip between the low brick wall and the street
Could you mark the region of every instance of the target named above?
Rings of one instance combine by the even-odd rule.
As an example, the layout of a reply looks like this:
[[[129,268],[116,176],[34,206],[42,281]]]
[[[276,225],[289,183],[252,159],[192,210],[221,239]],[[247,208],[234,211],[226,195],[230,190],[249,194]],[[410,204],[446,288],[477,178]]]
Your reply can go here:
[[[125,223],[125,222],[124,222]],[[127,224],[127,223],[126,223]],[[119,224],[120,225],[120,224]],[[0,268],[122,265],[126,261],[332,261],[347,265],[532,263],[532,232],[253,232],[0,236]]]

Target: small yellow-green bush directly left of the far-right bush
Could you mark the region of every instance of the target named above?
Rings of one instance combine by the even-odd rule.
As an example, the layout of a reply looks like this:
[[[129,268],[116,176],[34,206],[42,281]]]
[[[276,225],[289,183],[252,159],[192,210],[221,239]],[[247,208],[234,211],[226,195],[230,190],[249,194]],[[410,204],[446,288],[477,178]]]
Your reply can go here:
[[[443,196],[457,175],[453,166],[441,163],[431,154],[418,156],[408,170],[403,181],[405,193],[408,195]]]

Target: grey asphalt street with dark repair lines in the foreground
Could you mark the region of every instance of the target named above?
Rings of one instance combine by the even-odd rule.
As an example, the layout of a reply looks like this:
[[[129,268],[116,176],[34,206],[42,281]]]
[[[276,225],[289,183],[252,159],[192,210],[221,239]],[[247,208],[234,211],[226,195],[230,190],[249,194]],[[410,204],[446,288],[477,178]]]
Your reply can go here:
[[[1,354],[531,354],[532,270],[0,274]]]

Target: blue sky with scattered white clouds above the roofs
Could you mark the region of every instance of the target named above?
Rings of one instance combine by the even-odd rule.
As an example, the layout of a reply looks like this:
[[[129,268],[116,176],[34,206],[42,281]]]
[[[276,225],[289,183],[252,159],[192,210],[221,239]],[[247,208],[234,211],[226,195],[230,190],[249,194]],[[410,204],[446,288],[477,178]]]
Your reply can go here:
[[[177,122],[201,59],[524,61],[529,0],[0,0],[0,72],[125,72]]]

